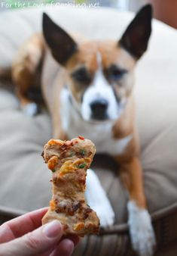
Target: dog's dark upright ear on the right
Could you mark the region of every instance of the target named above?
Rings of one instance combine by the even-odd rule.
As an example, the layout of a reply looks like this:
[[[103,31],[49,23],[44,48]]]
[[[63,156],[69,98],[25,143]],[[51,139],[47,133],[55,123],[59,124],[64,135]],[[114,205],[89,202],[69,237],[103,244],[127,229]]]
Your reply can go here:
[[[148,39],[151,35],[152,7],[145,5],[132,20],[124,32],[119,43],[139,59],[148,48]]]

